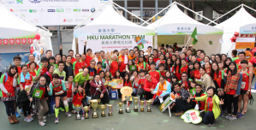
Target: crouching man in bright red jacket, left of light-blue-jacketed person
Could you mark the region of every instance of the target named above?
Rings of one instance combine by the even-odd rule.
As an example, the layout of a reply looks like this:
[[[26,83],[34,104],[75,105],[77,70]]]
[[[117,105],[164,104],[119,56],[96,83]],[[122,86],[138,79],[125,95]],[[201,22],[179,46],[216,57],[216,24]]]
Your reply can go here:
[[[138,95],[144,94],[146,95],[146,100],[149,100],[153,98],[153,94],[151,92],[158,85],[158,81],[152,78],[149,73],[146,73],[145,78],[146,81],[144,88],[140,88],[140,90],[138,91]]]

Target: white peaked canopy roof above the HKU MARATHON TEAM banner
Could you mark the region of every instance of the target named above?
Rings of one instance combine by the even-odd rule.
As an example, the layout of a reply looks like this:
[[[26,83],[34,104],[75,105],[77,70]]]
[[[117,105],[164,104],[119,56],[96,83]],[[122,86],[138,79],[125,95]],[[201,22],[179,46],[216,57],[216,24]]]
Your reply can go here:
[[[115,3],[116,4],[116,3]],[[128,21],[115,9],[113,9],[113,2],[108,1],[104,6],[105,9],[103,10],[101,15],[98,15],[92,22],[88,23],[84,27],[80,27],[80,25],[74,28],[74,40],[72,45],[72,50],[76,51],[76,40],[80,36],[86,35],[102,35],[102,34],[109,34],[109,35],[124,35],[124,34],[135,34],[135,35],[154,35],[154,29],[140,27],[135,23]],[[127,11],[127,10],[125,10]],[[96,12],[94,12],[96,13]],[[94,14],[93,13],[93,14]],[[92,14],[92,15],[93,15]],[[93,18],[93,17],[87,17]],[[85,20],[86,21],[86,20]],[[143,21],[143,20],[142,20]]]

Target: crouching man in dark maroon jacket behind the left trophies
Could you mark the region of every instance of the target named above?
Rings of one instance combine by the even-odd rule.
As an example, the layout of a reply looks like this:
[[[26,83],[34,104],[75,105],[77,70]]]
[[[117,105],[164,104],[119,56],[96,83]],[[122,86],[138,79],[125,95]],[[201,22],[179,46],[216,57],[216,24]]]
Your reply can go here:
[[[106,91],[106,88],[103,85],[103,82],[100,80],[99,74],[94,75],[94,80],[90,83],[92,94],[92,99],[99,99],[101,100],[101,103],[109,103],[109,95]]]

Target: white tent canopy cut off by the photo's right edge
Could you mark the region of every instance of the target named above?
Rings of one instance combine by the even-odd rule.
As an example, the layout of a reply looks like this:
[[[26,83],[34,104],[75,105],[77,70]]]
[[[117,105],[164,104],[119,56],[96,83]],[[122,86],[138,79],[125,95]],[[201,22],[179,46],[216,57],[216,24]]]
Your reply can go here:
[[[235,49],[235,43],[231,43],[230,38],[235,32],[240,33],[256,33],[256,18],[250,15],[243,4],[241,9],[230,17],[227,21],[223,21],[219,26],[223,27],[223,44],[221,53],[230,56],[231,51]]]

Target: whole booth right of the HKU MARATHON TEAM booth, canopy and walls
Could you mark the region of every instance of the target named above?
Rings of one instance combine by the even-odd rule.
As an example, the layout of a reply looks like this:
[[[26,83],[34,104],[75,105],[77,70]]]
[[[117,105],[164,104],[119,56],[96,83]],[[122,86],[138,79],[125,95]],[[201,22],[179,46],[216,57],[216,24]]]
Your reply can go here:
[[[158,21],[153,22],[151,26],[148,26],[148,28],[154,27],[157,32],[154,41],[158,42],[158,44],[177,43],[182,47],[185,46],[194,28],[197,27],[198,43],[194,45],[194,48],[197,50],[205,50],[208,56],[219,53],[221,49],[219,39],[222,38],[223,31],[217,27],[207,26],[199,21],[193,20],[193,18],[184,14],[182,10],[178,8],[177,4],[179,3],[171,3],[168,12]],[[211,21],[209,19],[207,20]],[[188,45],[192,43],[192,40],[191,38],[188,41]],[[155,48],[156,47],[157,46],[155,46]]]

